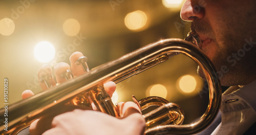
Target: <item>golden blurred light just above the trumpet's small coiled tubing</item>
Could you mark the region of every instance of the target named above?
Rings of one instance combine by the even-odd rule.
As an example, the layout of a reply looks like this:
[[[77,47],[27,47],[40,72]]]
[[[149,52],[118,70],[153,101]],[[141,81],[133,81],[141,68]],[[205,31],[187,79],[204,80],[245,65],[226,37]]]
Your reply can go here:
[[[154,84],[154,85],[151,85],[147,88],[146,95],[147,96],[158,96],[158,97],[166,98],[167,89],[164,85]]]

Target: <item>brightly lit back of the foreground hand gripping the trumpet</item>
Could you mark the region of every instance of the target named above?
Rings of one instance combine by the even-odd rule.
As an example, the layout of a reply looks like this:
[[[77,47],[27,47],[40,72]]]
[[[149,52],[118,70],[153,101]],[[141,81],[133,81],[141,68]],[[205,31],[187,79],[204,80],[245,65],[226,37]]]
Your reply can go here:
[[[131,108],[128,110],[135,111]],[[52,121],[52,128],[44,132],[43,135],[144,134],[145,120],[142,115],[140,113],[126,115],[125,118],[118,119],[98,111],[75,109],[69,113],[56,116]]]

